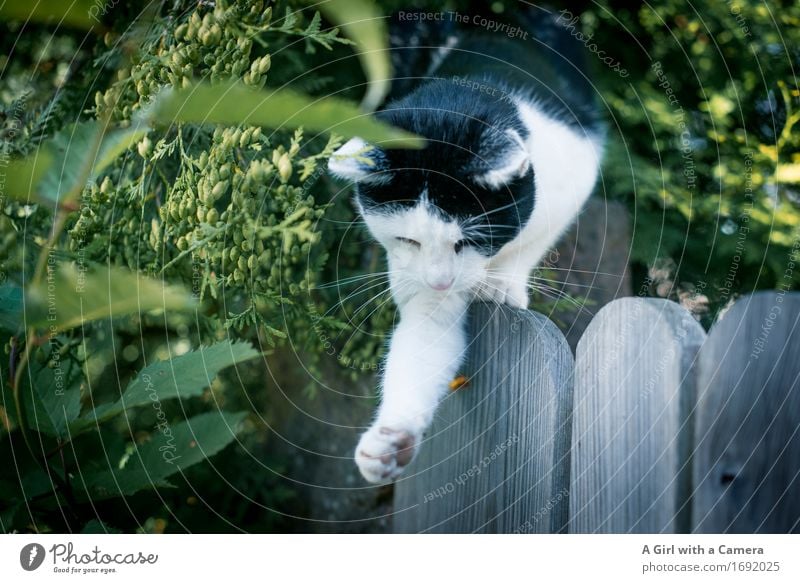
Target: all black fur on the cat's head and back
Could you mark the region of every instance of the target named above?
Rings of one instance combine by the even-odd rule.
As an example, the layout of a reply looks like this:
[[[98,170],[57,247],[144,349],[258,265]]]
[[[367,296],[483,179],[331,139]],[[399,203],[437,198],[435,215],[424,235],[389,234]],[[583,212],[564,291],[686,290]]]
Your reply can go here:
[[[570,48],[574,39],[551,15],[521,21],[531,33],[527,39],[452,25],[437,32],[429,24],[415,29],[404,23],[395,30],[393,43],[406,43],[393,47],[395,61],[403,55],[406,65],[426,71],[401,71],[395,86],[408,93],[395,93],[378,117],[425,137],[428,145],[368,154],[374,161],[370,171],[380,179],[358,184],[356,196],[365,210],[392,212],[425,195],[445,217],[481,225],[472,243],[486,254],[517,236],[536,200],[532,168],[497,188],[476,180],[502,167],[519,148],[507,130],[528,137],[511,96],[579,131],[594,132],[599,121],[582,63]],[[440,47],[454,38],[458,42],[441,58]],[[435,46],[426,39],[435,39]]]

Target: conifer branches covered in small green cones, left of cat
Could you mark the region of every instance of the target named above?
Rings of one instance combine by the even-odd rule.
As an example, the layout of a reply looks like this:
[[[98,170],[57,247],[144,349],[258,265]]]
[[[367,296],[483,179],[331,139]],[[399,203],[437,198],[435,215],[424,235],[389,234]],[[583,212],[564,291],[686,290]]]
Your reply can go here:
[[[303,28],[296,13],[276,19],[260,1],[193,5],[97,91],[93,113],[124,125],[162,88],[200,79],[263,86],[273,66],[270,43],[298,34],[324,34],[321,44],[332,38],[317,17]],[[118,40],[106,39],[110,52]],[[288,50],[275,55],[275,66]],[[347,196],[331,202],[326,188],[327,158],[340,143],[255,126],[153,131],[87,188],[69,248],[87,261],[110,258],[183,281],[211,306],[210,318],[270,343],[290,337],[311,366],[333,339],[337,360],[354,376],[375,370],[394,315],[388,296],[350,318],[346,310],[374,293],[342,302],[357,286],[315,289],[364,271],[363,245],[342,242],[337,223],[324,218],[353,218]]]

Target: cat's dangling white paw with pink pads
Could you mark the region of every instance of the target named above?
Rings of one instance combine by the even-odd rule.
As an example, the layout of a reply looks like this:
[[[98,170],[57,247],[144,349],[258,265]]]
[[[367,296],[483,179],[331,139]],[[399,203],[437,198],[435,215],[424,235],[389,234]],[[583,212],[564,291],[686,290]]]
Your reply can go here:
[[[368,482],[395,479],[414,459],[419,436],[406,429],[373,425],[356,447],[356,464]]]

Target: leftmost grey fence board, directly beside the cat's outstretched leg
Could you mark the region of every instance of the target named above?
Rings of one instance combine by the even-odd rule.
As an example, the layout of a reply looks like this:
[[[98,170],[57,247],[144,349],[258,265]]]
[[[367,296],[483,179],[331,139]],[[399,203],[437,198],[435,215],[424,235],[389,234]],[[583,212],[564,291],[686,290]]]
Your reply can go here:
[[[442,403],[395,486],[395,532],[563,532],[573,358],[540,314],[470,312],[469,385]]]

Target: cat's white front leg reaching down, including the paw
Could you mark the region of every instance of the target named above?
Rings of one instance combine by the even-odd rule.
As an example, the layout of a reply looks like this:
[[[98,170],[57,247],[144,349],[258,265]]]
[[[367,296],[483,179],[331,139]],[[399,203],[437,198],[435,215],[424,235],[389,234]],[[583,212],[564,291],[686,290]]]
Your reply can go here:
[[[414,458],[463,360],[466,294],[421,293],[400,305],[375,422],[355,459],[370,482],[392,480]]]

